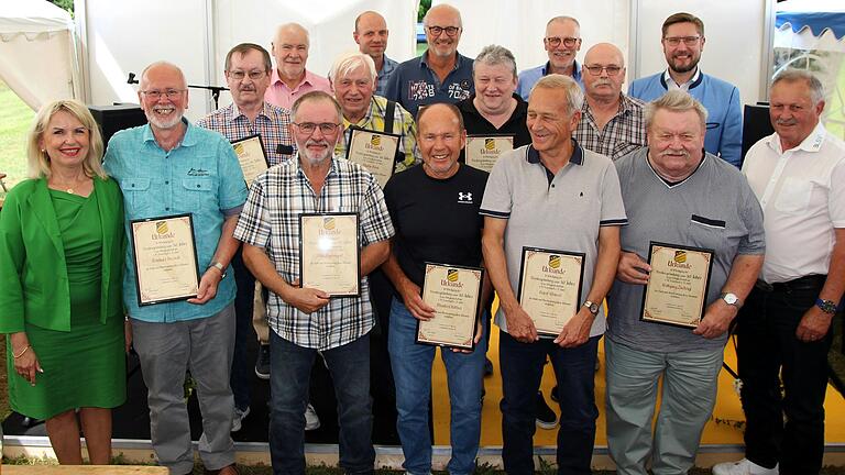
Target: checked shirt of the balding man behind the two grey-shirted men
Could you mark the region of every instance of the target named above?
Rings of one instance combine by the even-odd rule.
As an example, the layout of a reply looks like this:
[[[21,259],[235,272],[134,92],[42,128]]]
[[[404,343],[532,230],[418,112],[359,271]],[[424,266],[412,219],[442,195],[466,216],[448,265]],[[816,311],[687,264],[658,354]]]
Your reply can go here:
[[[572,132],[572,137],[582,147],[614,161],[646,146],[646,119],[643,113],[645,103],[636,98],[621,96],[619,111],[603,130],[599,130],[590,106],[584,100],[581,121]]]

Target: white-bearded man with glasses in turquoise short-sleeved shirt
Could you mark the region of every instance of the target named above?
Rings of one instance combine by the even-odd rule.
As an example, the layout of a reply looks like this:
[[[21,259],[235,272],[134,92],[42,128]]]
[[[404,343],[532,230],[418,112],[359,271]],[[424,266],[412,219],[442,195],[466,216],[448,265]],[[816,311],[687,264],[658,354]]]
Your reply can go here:
[[[123,191],[127,233],[132,220],[191,213],[201,269],[197,297],[141,307],[134,251],[127,252],[123,302],[147,387],[153,450],[172,474],[194,471],[184,390],[190,369],[202,408],[199,456],[210,473],[237,475],[229,386],[235,283],[226,269],[240,245],[232,231],[246,185],[229,141],[183,118],[188,89],[178,67],[147,66],[138,98],[150,123],[114,134],[103,161]]]

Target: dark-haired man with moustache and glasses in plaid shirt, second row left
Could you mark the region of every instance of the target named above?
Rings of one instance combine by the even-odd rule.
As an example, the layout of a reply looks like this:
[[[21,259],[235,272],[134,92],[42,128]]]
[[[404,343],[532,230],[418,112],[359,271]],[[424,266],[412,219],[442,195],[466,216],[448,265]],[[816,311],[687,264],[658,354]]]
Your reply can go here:
[[[290,135],[290,114],[286,109],[267,103],[264,92],[270,86],[273,69],[270,53],[253,43],[241,43],[226,55],[226,81],[232,95],[232,103],[220,108],[197,121],[197,126],[223,134],[230,142],[252,135],[261,135],[268,165],[277,165],[294,156],[296,148]],[[259,357],[254,373],[261,379],[270,379],[270,329],[262,300],[254,305],[255,277],[246,269],[239,251],[232,258],[232,270],[238,284],[234,298],[234,314],[238,320],[232,361],[232,393],[234,416],[232,432],[241,429],[243,419],[250,413],[250,373],[246,358],[250,338],[250,322],[259,340]],[[259,292],[261,292],[259,286]],[[260,294],[259,294],[260,295]],[[320,419],[309,405],[306,411],[306,429],[320,427]]]

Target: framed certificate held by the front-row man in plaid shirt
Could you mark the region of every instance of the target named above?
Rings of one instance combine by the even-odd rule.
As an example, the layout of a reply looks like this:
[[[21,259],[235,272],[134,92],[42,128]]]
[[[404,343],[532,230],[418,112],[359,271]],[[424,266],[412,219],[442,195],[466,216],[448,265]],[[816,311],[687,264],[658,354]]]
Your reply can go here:
[[[358,213],[299,216],[299,281],[331,297],[361,295]]]

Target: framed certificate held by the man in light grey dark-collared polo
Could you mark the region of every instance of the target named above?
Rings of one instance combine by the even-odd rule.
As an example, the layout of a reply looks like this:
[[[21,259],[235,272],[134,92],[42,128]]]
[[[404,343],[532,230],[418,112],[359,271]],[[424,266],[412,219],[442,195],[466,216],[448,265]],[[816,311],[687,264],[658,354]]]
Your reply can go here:
[[[581,308],[584,253],[523,247],[519,306],[537,333],[557,336]]]

